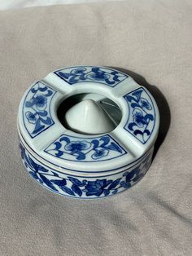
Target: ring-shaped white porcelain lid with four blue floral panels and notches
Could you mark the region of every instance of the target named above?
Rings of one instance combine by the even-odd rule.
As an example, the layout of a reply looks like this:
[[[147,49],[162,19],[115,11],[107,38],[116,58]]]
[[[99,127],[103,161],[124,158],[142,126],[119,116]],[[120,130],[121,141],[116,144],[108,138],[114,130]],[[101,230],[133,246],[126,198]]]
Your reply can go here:
[[[122,113],[120,123],[99,135],[65,128],[59,121],[59,105],[78,94],[96,102],[111,99]],[[56,70],[28,88],[20,102],[18,129],[22,141],[47,164],[85,173],[112,171],[132,165],[153,147],[159,110],[151,93],[129,75],[112,68],[76,66]]]

